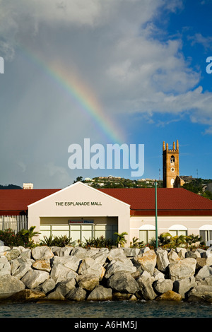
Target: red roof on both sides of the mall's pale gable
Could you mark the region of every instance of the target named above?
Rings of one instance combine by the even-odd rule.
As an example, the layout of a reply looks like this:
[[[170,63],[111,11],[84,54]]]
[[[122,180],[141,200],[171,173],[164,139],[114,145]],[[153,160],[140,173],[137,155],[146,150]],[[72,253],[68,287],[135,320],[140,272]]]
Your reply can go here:
[[[27,211],[28,205],[60,189],[1,189],[0,215]],[[153,215],[154,188],[99,189],[131,206],[131,215]],[[212,201],[186,189],[158,188],[158,215],[212,215]]]

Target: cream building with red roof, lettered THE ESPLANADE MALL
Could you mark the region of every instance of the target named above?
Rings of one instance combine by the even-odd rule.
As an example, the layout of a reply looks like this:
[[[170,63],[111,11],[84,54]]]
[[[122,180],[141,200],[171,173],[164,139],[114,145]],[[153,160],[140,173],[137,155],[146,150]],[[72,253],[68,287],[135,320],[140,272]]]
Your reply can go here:
[[[182,188],[158,188],[157,196],[158,235],[194,234],[212,241],[211,200]],[[0,190],[0,229],[8,215],[13,220],[25,215],[40,239],[67,235],[84,242],[127,232],[127,246],[134,237],[147,243],[155,238],[155,189],[94,189],[76,182],[64,189]]]

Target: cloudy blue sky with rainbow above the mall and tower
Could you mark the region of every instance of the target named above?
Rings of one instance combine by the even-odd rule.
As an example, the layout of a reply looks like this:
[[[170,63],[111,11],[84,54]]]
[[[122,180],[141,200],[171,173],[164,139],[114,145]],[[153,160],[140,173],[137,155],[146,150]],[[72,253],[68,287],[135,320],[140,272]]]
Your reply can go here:
[[[162,179],[177,139],[179,175],[211,179],[211,13],[212,0],[0,0],[0,184]],[[85,167],[85,138],[104,168]],[[110,144],[134,145],[143,174],[109,169]]]

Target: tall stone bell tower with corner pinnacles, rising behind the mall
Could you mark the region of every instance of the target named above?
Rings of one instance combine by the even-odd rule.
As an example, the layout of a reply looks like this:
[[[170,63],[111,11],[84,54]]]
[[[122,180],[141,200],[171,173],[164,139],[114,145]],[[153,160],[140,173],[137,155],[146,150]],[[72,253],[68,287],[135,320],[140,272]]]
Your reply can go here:
[[[163,142],[163,187],[179,188],[181,179],[179,177],[179,142],[169,149],[168,143]]]

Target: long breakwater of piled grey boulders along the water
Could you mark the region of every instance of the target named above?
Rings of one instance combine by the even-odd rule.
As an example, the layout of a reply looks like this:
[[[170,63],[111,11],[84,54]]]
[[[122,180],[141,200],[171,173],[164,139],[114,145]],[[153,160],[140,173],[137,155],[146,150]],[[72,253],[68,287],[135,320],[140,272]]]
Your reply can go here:
[[[212,251],[0,247],[0,301],[212,302]]]

